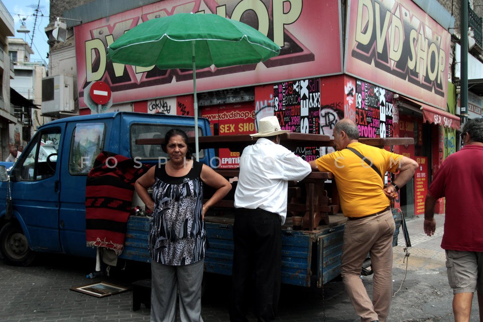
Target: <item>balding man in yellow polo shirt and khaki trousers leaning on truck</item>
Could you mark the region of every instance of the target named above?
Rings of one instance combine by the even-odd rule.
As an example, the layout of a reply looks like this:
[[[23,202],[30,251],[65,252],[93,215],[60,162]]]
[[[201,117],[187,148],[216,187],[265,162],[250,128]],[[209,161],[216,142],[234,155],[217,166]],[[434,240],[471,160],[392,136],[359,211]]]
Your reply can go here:
[[[360,143],[358,139],[357,125],[350,119],[340,120],[334,127],[337,151],[309,164],[313,170],[334,174],[341,208],[348,217],[341,274],[352,305],[362,322],[385,321],[392,295],[392,235],[395,229],[389,199],[414,176],[418,163],[409,157]],[[399,171],[399,174],[384,187],[381,174],[387,171]],[[360,278],[367,254],[370,254],[374,271],[372,301]]]

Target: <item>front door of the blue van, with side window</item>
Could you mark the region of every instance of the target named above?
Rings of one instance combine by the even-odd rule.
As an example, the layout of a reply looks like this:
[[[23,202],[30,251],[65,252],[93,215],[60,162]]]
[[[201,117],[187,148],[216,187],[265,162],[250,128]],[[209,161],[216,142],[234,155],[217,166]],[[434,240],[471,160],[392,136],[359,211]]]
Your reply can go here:
[[[59,241],[59,164],[65,124],[35,134],[11,171],[14,214],[34,251],[62,251]]]

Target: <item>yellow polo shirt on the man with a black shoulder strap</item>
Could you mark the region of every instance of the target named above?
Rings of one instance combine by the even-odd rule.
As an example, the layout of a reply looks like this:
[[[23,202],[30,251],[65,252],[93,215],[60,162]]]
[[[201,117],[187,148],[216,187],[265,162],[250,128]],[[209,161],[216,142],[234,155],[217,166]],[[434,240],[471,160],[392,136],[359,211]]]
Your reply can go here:
[[[359,142],[348,146],[359,151],[369,161],[372,160],[382,175],[387,171],[397,172],[403,158],[403,155]],[[315,165],[319,171],[334,174],[345,216],[370,215],[389,206],[389,199],[382,190],[381,177],[351,150],[343,149],[320,156],[315,160]]]

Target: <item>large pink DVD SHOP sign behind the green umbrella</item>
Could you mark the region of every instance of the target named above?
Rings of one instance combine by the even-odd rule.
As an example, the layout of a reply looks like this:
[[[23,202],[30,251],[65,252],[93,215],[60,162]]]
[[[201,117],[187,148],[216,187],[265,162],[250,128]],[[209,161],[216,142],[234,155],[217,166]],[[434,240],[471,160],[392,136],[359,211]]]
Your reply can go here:
[[[197,70],[199,93],[340,74],[340,8],[340,1],[304,1],[302,5],[301,0],[165,0],[83,23],[74,27],[79,106],[86,106],[84,89],[95,81],[110,86],[114,104],[193,93],[191,70],[134,67],[112,63],[106,55],[107,47],[131,28],[177,13],[213,13],[241,21],[281,47],[279,56],[263,63]]]

